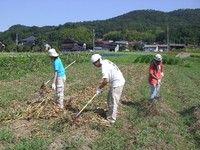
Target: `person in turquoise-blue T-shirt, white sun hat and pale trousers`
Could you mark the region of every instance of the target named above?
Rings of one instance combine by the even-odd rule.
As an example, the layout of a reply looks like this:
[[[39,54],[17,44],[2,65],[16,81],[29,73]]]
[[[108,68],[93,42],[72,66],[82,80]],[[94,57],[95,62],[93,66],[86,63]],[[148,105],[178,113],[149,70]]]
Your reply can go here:
[[[65,68],[59,54],[54,48],[49,49],[48,54],[53,62],[54,78],[52,80],[52,89],[56,90],[56,102],[60,108],[64,108],[64,87],[66,81]]]

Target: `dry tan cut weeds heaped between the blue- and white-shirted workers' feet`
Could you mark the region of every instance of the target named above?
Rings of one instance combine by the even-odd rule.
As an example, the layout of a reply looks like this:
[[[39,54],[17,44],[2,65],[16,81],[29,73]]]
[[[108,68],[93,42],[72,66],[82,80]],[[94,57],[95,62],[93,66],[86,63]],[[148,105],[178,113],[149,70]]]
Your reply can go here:
[[[55,102],[53,95],[54,91],[52,91],[52,89],[49,87],[43,87],[38,93],[36,93],[37,98],[27,101],[26,108],[23,108],[25,111],[22,111],[18,118],[6,118],[4,122],[6,124],[10,124],[10,122],[17,121],[17,124],[20,125],[15,128],[29,126],[27,125],[26,121],[32,122],[32,120],[36,121],[37,119],[51,120],[53,118],[60,118],[64,121],[63,124],[66,126],[69,125],[77,127],[88,123],[88,121],[99,122],[102,116],[106,116],[106,109],[97,107],[93,110],[90,110],[86,108],[80,116],[76,117],[76,114],[84,105],[79,102],[80,99],[85,97],[89,98],[87,91],[91,91],[91,88],[94,89],[93,87],[87,87],[83,91],[79,91],[73,96],[67,96],[64,101],[64,109],[60,109]],[[15,103],[11,105],[14,106],[19,104]],[[93,102],[93,105],[95,105],[95,102]],[[106,107],[107,106],[105,104],[105,108]],[[93,115],[91,115],[91,113],[93,113]],[[22,123],[19,123],[20,120]]]

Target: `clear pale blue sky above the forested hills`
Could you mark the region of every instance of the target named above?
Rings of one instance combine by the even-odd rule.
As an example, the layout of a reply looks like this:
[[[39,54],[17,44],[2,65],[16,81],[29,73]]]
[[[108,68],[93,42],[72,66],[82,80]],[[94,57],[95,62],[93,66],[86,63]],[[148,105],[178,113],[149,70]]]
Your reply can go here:
[[[13,25],[58,26],[106,20],[134,10],[200,8],[200,0],[1,0],[0,32]]]

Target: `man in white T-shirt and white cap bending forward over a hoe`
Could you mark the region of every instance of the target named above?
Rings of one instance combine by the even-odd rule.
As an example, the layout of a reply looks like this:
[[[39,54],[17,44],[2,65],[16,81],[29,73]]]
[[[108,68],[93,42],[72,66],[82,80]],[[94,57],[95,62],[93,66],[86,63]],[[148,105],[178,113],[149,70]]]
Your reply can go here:
[[[110,83],[110,89],[107,95],[108,117],[110,123],[115,123],[117,118],[117,109],[120,103],[121,94],[125,84],[125,79],[122,72],[116,64],[109,60],[103,60],[101,55],[94,54],[91,57],[91,63],[96,67],[101,67],[102,82],[96,89],[96,94],[99,95],[102,89]]]

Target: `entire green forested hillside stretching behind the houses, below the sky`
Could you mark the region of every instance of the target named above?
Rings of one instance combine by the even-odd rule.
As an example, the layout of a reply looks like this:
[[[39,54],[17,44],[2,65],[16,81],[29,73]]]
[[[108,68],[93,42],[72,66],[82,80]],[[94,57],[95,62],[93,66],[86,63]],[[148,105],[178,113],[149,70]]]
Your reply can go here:
[[[15,34],[20,38],[35,36],[37,42],[43,40],[59,45],[66,38],[92,44],[92,30],[96,38],[105,40],[143,40],[147,43],[166,43],[167,29],[171,43],[200,43],[200,9],[179,9],[172,12],[156,10],[136,10],[109,18],[70,23],[59,26],[27,27],[14,25],[0,33],[0,41],[15,41]]]

